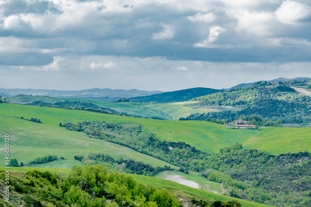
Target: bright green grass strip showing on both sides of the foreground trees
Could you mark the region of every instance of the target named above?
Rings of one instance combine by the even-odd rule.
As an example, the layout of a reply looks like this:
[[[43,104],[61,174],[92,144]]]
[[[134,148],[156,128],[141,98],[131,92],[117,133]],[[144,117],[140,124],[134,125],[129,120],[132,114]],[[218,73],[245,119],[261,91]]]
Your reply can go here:
[[[39,171],[50,171],[57,174],[68,175],[70,173],[70,169],[59,169],[59,168],[31,168],[31,167],[11,167],[11,172],[27,172],[28,170],[39,170]],[[175,189],[180,190],[182,192],[188,193],[190,195],[198,196],[208,200],[221,200],[221,201],[229,201],[229,200],[238,200],[243,207],[264,207],[270,205],[258,204],[247,200],[242,200],[238,198],[232,198],[229,196],[223,196],[220,194],[212,193],[209,191],[199,190],[197,188],[188,187],[179,183],[175,183],[170,180],[165,180],[161,178],[149,177],[144,175],[136,175],[129,174],[138,182],[152,184],[156,187],[165,187],[167,189]]]

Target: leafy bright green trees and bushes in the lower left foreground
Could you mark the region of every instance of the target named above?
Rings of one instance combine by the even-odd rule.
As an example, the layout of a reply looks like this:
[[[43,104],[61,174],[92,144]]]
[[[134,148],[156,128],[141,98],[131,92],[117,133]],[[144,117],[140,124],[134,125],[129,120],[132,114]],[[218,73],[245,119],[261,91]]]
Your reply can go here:
[[[0,170],[0,179],[5,177],[4,170]],[[4,188],[2,182],[0,186]],[[108,174],[100,165],[73,166],[67,177],[37,170],[10,175],[10,191],[19,197],[16,206],[180,206],[178,199],[165,188],[138,183],[125,174]],[[0,205],[5,206],[4,203],[0,199]]]

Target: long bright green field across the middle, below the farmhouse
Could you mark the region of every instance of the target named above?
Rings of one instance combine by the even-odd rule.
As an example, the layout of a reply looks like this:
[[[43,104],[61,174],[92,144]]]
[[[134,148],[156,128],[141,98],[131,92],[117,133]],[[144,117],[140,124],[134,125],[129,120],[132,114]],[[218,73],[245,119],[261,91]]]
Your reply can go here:
[[[77,123],[85,120],[116,124],[138,123],[142,126],[143,133],[155,132],[161,140],[185,142],[208,153],[219,152],[220,148],[230,146],[235,141],[242,143],[244,147],[258,148],[272,154],[300,152],[306,149],[311,151],[311,141],[308,139],[310,128],[262,127],[260,130],[230,130],[223,125],[207,121],[164,121],[16,104],[0,104],[0,114],[7,114],[7,117],[40,118],[44,123],[54,125],[53,127],[58,126],[59,122]],[[28,123],[32,122],[28,121]],[[43,125],[32,124],[36,124],[35,126]],[[22,126],[21,130],[16,130],[16,133],[22,132]],[[171,133],[169,132],[170,128]],[[61,127],[57,127],[57,129],[64,130]],[[292,130],[294,130],[294,133]],[[213,140],[214,134],[215,140]]]

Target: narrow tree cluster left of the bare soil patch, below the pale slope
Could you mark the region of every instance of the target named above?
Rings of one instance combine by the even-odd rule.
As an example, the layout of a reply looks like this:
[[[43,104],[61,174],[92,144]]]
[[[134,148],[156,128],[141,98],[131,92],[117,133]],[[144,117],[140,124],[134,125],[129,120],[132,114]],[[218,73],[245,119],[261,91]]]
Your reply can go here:
[[[149,164],[144,164],[143,162],[134,161],[131,159],[124,160],[123,157],[120,157],[119,160],[114,159],[109,155],[103,153],[88,153],[87,156],[78,153],[74,156],[75,160],[81,161],[86,165],[95,165],[99,164],[103,167],[107,167],[109,170],[117,170],[118,172],[129,173],[129,174],[138,174],[146,176],[155,176],[156,174],[166,171],[174,170],[170,166],[165,167],[152,167]],[[110,164],[110,165],[109,165]]]

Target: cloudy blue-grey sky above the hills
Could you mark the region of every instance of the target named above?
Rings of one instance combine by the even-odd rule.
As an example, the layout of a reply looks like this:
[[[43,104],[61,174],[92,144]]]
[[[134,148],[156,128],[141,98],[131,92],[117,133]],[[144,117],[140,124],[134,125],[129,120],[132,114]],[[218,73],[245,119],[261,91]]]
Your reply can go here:
[[[309,0],[0,0],[0,88],[172,91],[311,77]]]

